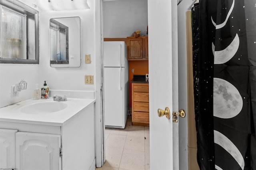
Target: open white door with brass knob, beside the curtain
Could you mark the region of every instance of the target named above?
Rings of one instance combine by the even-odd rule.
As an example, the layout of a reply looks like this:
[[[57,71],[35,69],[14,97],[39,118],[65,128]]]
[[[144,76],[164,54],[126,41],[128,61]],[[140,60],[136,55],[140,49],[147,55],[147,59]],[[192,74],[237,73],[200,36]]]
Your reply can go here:
[[[150,169],[179,170],[177,1],[148,0]],[[171,117],[158,117],[169,107]]]

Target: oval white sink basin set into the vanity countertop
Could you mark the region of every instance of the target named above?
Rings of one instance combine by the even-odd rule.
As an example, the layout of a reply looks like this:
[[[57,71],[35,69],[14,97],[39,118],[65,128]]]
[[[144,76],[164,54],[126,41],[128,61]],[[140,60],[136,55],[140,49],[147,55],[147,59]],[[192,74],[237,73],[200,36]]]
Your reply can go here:
[[[68,104],[64,102],[41,102],[20,107],[20,111],[26,114],[46,114],[66,109]]]

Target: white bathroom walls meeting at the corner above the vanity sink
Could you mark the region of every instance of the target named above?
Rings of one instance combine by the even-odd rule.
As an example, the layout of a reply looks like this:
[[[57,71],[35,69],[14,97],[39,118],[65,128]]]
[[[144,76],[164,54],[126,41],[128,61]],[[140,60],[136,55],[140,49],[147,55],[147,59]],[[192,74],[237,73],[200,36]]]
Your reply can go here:
[[[76,11],[39,12],[39,65],[38,64],[0,64],[0,107],[7,106],[33,97],[35,84],[43,86],[44,80],[50,90],[95,90],[93,85],[84,84],[84,75],[95,76],[95,2],[88,0],[90,9]],[[78,68],[50,67],[50,18],[79,16],[81,18],[82,66]],[[100,21],[98,21],[100,22]],[[91,64],[85,64],[85,54],[91,55]],[[10,98],[11,86],[24,78],[27,90],[19,97]]]

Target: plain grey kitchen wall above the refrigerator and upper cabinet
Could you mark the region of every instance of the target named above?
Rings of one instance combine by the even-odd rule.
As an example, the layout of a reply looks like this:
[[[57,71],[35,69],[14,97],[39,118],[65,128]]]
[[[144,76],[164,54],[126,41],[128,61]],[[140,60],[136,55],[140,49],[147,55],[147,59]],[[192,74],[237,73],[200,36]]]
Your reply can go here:
[[[146,35],[148,0],[114,0],[103,2],[104,38],[130,37],[135,30]]]

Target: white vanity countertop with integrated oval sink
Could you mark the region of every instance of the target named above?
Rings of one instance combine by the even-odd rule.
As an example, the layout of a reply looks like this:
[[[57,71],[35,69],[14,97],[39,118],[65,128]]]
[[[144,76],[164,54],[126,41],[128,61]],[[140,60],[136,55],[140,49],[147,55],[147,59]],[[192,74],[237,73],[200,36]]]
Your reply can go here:
[[[94,104],[95,99],[68,98],[67,101],[28,99],[0,108],[2,122],[64,126],[72,117]],[[87,114],[87,113],[86,113]],[[88,112],[91,114],[91,112]]]

